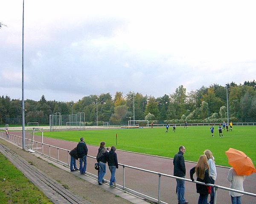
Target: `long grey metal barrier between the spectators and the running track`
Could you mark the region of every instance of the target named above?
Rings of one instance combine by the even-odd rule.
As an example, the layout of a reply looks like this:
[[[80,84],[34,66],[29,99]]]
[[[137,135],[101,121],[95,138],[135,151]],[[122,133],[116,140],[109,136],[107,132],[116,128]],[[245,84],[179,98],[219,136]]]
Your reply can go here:
[[[0,132],[0,137],[5,138],[5,139],[9,139],[10,141],[12,141],[12,142],[22,146],[22,137],[20,137],[20,136],[9,134],[9,138],[7,138],[5,132]],[[68,167],[70,166],[70,155],[69,155],[70,150],[66,150],[66,149],[63,149],[63,148],[60,148],[60,147],[55,147],[53,145],[45,144],[45,143],[42,143],[42,142],[37,142],[35,140],[27,139],[27,138],[25,139],[25,143],[26,143],[25,144],[26,149],[35,150],[35,152],[37,152],[37,153],[39,153],[39,154],[41,154],[41,155],[43,155],[43,156],[45,156],[45,157],[47,157],[49,159],[52,159],[53,161],[56,161],[56,162],[58,162],[60,164],[66,165]],[[38,147],[38,144],[39,144],[39,147]],[[48,154],[44,153],[44,149],[46,149],[46,147],[49,147]],[[57,150],[57,158],[54,158],[54,157],[51,156],[51,150],[53,148],[55,148]],[[61,159],[59,158],[59,151],[60,150],[66,152],[66,154],[67,154],[66,156],[67,157],[66,156],[64,156],[64,157],[66,157],[67,160],[65,159],[65,161],[61,161]],[[94,157],[94,156],[87,155],[87,157],[96,159],[96,157]],[[166,177],[169,177],[169,178],[175,178],[175,179],[180,179],[180,180],[187,181],[187,182],[192,182],[192,183],[197,183],[197,184],[202,184],[202,185],[214,187],[214,190],[215,190],[214,204],[216,204],[216,202],[217,202],[217,190],[218,189],[233,191],[233,192],[236,192],[236,193],[242,193],[244,195],[250,195],[250,196],[256,197],[256,194],[254,194],[254,193],[249,193],[249,192],[245,192],[245,191],[235,190],[235,189],[231,189],[231,188],[228,188],[228,187],[219,186],[219,185],[216,185],[216,184],[205,184],[205,183],[202,183],[202,182],[199,182],[199,181],[192,181],[192,180],[190,180],[188,178],[180,178],[180,177],[177,177],[177,176],[172,176],[172,175],[165,174],[165,173],[160,173],[160,172],[146,170],[146,169],[142,169],[142,168],[138,168],[138,167],[133,167],[133,166],[129,166],[129,165],[126,165],[126,164],[119,164],[119,165],[123,167],[123,169],[122,169],[123,181],[122,181],[122,185],[117,184],[117,186],[121,187],[123,190],[126,190],[128,192],[140,195],[143,198],[150,199],[151,201],[155,201],[155,202],[158,202],[160,204],[167,204],[166,202],[161,201],[161,199],[160,199],[161,198],[160,187],[161,187],[161,177],[162,176],[166,176]],[[151,197],[149,195],[145,195],[143,193],[140,193],[140,192],[137,192],[137,191],[134,191],[132,189],[129,189],[129,188],[125,187],[125,167],[157,175],[158,176],[158,195],[157,195],[157,198],[153,198],[153,197]],[[94,174],[92,174],[92,175],[94,175]],[[96,176],[96,175],[94,175],[94,176]]]

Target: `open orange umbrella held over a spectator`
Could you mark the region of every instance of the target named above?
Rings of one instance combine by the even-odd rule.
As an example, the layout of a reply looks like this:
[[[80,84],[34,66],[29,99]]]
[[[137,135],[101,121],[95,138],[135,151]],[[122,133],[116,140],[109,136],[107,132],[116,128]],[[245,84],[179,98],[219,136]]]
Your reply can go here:
[[[226,151],[226,155],[228,163],[235,169],[237,175],[249,176],[252,173],[256,173],[252,160],[250,157],[246,156],[245,153],[229,148],[229,150]]]

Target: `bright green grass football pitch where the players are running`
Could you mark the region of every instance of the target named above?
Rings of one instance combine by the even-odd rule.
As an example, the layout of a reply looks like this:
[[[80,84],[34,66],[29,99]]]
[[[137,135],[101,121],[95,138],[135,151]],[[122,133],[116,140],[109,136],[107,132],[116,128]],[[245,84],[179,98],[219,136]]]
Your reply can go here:
[[[223,138],[219,138],[218,126],[215,126],[212,138],[210,126],[176,127],[176,132],[169,127],[116,129],[116,130],[80,130],[44,132],[44,136],[79,142],[84,137],[87,144],[99,145],[101,141],[106,146],[115,145],[117,149],[146,153],[173,158],[179,146],[186,147],[186,160],[197,161],[204,150],[209,149],[218,165],[229,166],[225,151],[230,147],[241,150],[253,160],[256,165],[256,126],[234,126],[233,131],[223,130]],[[116,145],[117,133],[117,145]],[[89,153],[90,155],[90,153]]]

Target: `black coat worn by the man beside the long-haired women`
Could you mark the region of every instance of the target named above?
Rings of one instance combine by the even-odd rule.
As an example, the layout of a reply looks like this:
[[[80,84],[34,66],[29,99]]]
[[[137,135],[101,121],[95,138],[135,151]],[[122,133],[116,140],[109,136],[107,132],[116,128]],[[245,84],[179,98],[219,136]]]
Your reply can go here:
[[[185,160],[183,153],[179,151],[177,154],[175,154],[173,159],[173,175],[178,177],[184,177],[186,176],[186,167],[185,167]]]

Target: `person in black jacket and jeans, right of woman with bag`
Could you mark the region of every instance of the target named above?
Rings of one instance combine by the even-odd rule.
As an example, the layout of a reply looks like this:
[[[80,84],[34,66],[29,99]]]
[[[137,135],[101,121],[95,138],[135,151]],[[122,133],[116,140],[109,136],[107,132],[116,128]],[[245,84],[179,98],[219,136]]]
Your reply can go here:
[[[108,168],[111,172],[111,178],[109,185],[110,187],[116,186],[116,178],[115,173],[116,169],[118,169],[117,155],[115,153],[116,147],[112,146],[110,152],[108,153]]]

